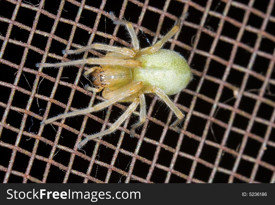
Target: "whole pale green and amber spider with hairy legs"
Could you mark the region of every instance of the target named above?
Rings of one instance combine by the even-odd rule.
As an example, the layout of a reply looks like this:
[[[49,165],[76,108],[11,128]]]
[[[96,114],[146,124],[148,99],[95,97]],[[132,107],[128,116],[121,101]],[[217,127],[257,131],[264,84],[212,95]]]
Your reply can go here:
[[[153,93],[158,95],[168,105],[177,117],[172,126],[177,126],[184,118],[182,111],[168,98],[168,95],[174,95],[183,90],[191,81],[192,73],[183,56],[176,51],[162,48],[179,31],[180,21],[154,45],[140,48],[138,37],[132,24],[126,20],[118,20],[113,13],[110,14],[110,17],[114,24],[126,27],[131,37],[132,48],[93,43],[77,50],[65,50],[63,53],[75,54],[89,49],[96,49],[107,51],[107,54],[101,58],[88,58],[54,64],[37,64],[37,67],[61,67],[82,64],[99,65],[84,72],[84,75],[91,74],[93,76],[93,85],[96,86],[87,86],[86,89],[93,92],[103,90],[102,96],[106,99],[93,107],[60,114],[42,121],[41,124],[49,124],[62,118],[96,112],[116,102],[131,102],[125,112],[109,129],[86,137],[79,143],[78,149],[91,139],[116,131],[124,120],[140,105],[139,121],[131,126],[131,136],[134,136],[135,129],[143,125],[146,119],[144,94]]]

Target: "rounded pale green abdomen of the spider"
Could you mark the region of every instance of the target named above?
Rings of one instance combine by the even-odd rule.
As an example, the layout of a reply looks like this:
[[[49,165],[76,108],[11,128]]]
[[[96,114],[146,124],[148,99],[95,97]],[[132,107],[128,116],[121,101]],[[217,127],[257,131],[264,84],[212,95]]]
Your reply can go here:
[[[192,73],[186,60],[176,51],[159,51],[138,57],[141,68],[133,68],[134,81],[143,85],[154,85],[166,95],[174,95],[183,90],[192,79]]]

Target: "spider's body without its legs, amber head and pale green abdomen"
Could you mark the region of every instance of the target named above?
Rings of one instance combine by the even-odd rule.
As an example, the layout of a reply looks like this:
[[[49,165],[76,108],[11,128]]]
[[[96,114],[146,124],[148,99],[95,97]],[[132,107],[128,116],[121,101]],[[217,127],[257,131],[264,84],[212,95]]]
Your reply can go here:
[[[190,67],[184,57],[175,51],[160,49],[153,54],[133,59],[141,61],[141,67],[108,65],[93,71],[93,84],[104,87],[104,98],[109,99],[107,93],[138,81],[142,81],[144,86],[156,86],[166,95],[174,95],[183,90],[192,78]],[[134,97],[136,96],[132,96]],[[132,98],[122,101],[132,101]]]

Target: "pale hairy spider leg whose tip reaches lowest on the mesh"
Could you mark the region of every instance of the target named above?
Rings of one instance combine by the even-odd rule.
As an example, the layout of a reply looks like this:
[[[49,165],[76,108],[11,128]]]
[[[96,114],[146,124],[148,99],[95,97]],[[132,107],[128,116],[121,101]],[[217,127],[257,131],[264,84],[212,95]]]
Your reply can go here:
[[[88,137],[86,137],[85,139],[83,139],[79,144],[78,144],[78,149],[80,149],[81,147],[83,147],[83,145],[85,145],[89,140],[94,139],[94,138],[98,138],[98,137],[102,137],[106,134],[111,134],[112,132],[116,131],[118,129],[118,127],[124,122],[124,120],[126,120],[126,118],[128,118],[133,111],[136,110],[137,106],[138,106],[139,100],[138,98],[136,98],[133,103],[127,108],[127,110],[125,110],[125,112],[118,118],[117,121],[115,121],[109,129],[106,129],[102,132],[99,132],[97,134],[93,134],[90,135]]]

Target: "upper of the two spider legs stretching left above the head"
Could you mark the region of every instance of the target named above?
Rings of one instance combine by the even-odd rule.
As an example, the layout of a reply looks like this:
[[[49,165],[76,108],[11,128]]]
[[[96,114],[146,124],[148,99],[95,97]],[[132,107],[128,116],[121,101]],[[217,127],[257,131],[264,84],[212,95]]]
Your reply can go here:
[[[102,50],[102,51],[112,51],[112,52],[117,52],[121,53],[125,56],[129,57],[134,57],[135,56],[135,51],[129,49],[129,48],[122,48],[122,47],[117,47],[117,46],[110,46],[110,45],[105,45],[101,43],[93,43],[89,46],[84,46],[82,48],[79,48],[77,50],[65,50],[63,51],[63,54],[74,54],[74,53],[81,53],[90,49],[95,49],[95,50]]]

